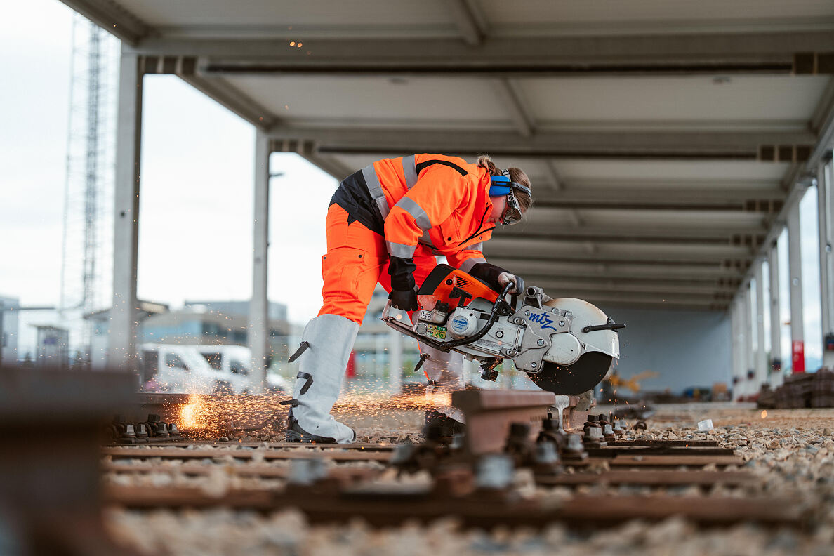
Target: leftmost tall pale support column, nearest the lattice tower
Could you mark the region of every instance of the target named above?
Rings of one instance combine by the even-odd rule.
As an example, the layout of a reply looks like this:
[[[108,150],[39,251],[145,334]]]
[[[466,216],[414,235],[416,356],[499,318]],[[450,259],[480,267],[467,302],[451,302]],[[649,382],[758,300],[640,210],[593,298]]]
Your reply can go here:
[[[139,165],[142,150],[142,58],[122,48],[118,78],[113,201],[113,308],[108,366],[135,370],[138,300]]]

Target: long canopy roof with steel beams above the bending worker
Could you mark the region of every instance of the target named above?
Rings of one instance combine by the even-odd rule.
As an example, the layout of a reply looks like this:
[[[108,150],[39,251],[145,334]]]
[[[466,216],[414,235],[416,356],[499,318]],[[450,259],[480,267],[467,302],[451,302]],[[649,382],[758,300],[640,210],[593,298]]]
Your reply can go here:
[[[489,153],[490,261],[602,306],[726,308],[831,148],[830,0],[63,0],[337,178]]]

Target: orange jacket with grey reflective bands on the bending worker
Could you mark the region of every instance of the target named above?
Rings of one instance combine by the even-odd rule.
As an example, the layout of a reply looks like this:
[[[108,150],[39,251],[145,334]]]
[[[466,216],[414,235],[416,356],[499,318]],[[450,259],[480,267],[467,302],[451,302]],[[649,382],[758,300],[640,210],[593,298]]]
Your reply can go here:
[[[362,174],[384,218],[389,255],[411,258],[422,243],[465,272],[486,262],[481,243],[495,229],[487,223],[492,202],[486,168],[443,154],[414,154],[384,158]]]

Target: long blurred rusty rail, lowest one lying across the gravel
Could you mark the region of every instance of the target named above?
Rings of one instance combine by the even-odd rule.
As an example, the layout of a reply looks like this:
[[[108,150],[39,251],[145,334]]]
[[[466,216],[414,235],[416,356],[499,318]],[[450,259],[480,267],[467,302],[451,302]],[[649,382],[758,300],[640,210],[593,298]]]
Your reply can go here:
[[[110,487],[107,503],[125,508],[247,508],[269,513],[299,508],[313,523],[348,522],[361,516],[374,526],[393,526],[409,520],[430,522],[460,518],[465,527],[545,527],[566,523],[573,528],[599,528],[631,519],[658,521],[673,515],[703,525],[741,522],[804,526],[806,507],[796,498],[676,497],[657,495],[580,496],[561,506],[480,492],[464,498],[443,497],[430,488],[332,488],[292,486],[279,493],[231,490],[223,497],[206,496],[198,488]]]

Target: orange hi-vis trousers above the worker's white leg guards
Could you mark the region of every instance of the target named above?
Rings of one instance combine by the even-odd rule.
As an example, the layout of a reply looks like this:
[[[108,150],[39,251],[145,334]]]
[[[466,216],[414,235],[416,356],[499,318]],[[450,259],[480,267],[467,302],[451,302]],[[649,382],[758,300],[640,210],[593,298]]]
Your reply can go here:
[[[377,282],[391,291],[385,240],[358,221],[349,223],[347,211],[335,203],[327,210],[326,229],[327,254],[321,258],[324,304],[319,315],[338,314],[361,324]],[[414,281],[420,285],[437,260],[429,248],[418,245],[414,265]]]

